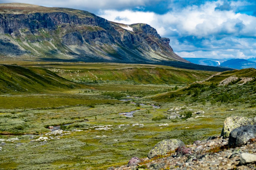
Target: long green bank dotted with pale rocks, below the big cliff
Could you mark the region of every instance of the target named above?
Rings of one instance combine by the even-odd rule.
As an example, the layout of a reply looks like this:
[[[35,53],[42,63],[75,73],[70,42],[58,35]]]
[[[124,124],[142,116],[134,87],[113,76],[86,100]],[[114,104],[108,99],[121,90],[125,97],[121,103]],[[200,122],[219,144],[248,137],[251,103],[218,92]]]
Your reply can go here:
[[[4,63],[4,62],[2,62]],[[170,66],[119,63],[56,63],[10,61],[25,67],[43,67],[60,77],[83,83],[116,82],[128,84],[190,84],[216,74]]]

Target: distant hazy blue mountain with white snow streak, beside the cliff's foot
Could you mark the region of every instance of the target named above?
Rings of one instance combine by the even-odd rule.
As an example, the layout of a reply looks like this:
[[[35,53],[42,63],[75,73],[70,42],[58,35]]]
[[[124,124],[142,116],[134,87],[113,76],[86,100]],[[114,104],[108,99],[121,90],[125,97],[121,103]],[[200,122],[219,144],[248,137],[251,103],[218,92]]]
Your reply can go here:
[[[227,59],[214,59],[214,58],[185,58],[191,63],[205,65],[205,66],[220,66],[221,63],[227,61]]]

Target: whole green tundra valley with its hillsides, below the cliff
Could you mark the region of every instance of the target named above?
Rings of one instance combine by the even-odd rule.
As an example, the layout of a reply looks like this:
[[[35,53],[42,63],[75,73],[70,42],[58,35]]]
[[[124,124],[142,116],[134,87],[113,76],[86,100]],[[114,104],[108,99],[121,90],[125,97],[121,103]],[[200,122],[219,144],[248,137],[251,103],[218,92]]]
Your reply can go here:
[[[146,157],[164,139],[191,144],[218,136],[226,117],[255,117],[255,69],[208,79],[217,72],[139,64],[1,63],[0,140],[6,144],[1,143],[0,169],[107,169]],[[120,114],[134,110],[133,117]],[[50,133],[48,127],[58,125],[64,132]]]

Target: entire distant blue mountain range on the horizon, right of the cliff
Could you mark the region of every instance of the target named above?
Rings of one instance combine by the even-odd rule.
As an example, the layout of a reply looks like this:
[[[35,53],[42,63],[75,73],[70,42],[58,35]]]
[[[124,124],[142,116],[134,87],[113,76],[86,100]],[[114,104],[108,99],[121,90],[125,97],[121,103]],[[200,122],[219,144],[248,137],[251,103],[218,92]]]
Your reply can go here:
[[[256,68],[256,62],[254,58],[251,59],[213,59],[213,58],[184,58],[191,63],[207,65],[207,66],[218,66],[228,67],[233,69],[244,69],[244,68]]]

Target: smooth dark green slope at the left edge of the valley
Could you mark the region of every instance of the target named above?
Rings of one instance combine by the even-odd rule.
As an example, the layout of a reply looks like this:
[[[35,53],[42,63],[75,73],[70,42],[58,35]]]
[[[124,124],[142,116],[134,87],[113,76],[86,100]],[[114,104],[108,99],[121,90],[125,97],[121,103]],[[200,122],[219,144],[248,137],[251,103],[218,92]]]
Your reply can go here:
[[[22,67],[0,64],[0,92],[42,92],[46,90],[61,91],[79,87],[65,78],[41,67]]]

